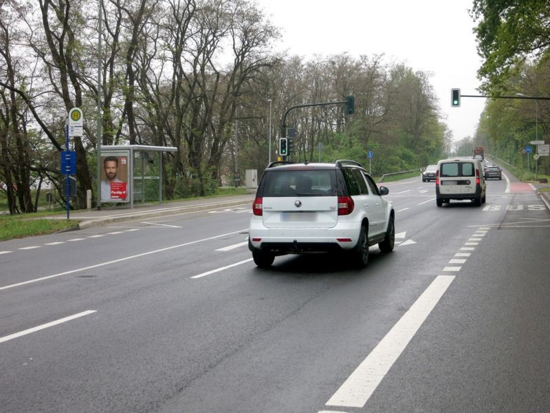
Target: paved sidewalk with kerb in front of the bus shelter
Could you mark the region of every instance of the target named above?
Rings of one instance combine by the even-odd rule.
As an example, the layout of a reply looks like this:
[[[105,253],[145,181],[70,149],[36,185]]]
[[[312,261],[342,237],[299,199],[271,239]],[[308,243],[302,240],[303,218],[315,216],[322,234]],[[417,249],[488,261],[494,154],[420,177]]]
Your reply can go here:
[[[252,201],[254,201],[253,194],[231,195],[190,201],[167,202],[164,204],[139,204],[134,205],[132,209],[126,207],[102,207],[100,210],[70,211],[69,218],[71,220],[78,220],[78,228],[85,229],[89,226],[110,224],[111,222],[142,220],[193,211],[209,211],[242,204],[252,208]],[[52,215],[49,218],[67,219],[67,215]]]

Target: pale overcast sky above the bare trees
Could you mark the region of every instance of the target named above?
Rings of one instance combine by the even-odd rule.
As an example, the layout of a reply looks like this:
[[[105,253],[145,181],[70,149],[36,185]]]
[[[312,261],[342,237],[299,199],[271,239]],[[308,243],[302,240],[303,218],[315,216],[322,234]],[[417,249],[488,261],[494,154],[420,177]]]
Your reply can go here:
[[[276,50],[300,56],[384,54],[384,61],[405,63],[432,73],[443,121],[453,140],[474,136],[484,98],[462,98],[451,107],[453,87],[479,94],[472,0],[255,0],[281,29]]]

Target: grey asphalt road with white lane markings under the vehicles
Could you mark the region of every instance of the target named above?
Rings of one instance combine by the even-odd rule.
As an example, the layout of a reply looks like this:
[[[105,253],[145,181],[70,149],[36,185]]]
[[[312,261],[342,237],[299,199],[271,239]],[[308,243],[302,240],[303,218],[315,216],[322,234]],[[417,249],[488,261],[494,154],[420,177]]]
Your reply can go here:
[[[0,242],[0,412],[547,412],[546,204],[388,187],[363,270],[256,268],[248,203]]]

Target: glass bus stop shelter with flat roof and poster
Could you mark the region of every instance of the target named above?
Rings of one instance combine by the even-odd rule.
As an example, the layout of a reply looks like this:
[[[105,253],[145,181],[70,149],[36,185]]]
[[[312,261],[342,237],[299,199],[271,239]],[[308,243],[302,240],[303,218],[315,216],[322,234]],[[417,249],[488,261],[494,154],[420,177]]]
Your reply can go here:
[[[162,204],[162,153],[175,151],[176,147],[102,146],[98,205]]]

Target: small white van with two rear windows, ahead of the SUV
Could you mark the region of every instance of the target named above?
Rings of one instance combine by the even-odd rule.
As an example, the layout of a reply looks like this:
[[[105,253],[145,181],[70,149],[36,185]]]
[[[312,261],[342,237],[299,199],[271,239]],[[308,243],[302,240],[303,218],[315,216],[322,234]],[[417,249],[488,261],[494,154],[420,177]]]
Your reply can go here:
[[[485,203],[486,194],[487,185],[479,160],[456,158],[437,162],[435,195],[438,207],[450,200],[472,200],[479,207]]]

